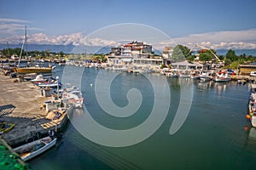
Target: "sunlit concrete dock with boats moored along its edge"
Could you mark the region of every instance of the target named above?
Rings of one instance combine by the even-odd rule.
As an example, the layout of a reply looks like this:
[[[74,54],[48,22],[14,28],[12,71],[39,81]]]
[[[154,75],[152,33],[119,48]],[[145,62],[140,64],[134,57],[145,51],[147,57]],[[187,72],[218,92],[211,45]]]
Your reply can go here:
[[[12,130],[1,134],[10,146],[26,142],[31,131],[46,134],[67,122],[66,113],[57,120],[49,118],[43,105],[51,97],[42,96],[40,88],[31,82],[15,82],[0,75],[0,87],[0,122],[15,123]]]

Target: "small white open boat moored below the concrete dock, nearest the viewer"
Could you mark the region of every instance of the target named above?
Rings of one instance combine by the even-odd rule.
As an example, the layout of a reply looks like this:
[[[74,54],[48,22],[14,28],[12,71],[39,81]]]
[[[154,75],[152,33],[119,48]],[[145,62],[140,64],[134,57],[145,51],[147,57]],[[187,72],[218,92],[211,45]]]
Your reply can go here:
[[[20,155],[23,161],[31,160],[33,157],[44,153],[56,144],[57,139],[45,137],[43,139],[35,140],[31,143],[21,145],[15,148],[15,152]]]

